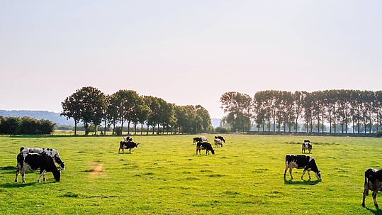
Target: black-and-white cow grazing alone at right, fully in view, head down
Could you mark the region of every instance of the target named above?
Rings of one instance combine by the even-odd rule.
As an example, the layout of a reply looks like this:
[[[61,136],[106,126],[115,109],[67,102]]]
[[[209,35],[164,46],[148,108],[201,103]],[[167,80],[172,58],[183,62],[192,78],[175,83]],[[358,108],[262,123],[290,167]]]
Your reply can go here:
[[[309,180],[310,177],[310,171],[315,172],[315,177],[318,178],[318,180],[322,180],[321,178],[321,171],[318,170],[318,167],[315,163],[315,159],[308,156],[308,155],[286,155],[285,156],[285,172],[284,172],[284,180],[286,179],[286,170],[289,169],[289,173],[291,174],[291,179],[293,180],[292,176],[292,169],[304,169],[303,175],[301,175],[301,180],[303,180],[303,176],[306,171],[308,171]]]

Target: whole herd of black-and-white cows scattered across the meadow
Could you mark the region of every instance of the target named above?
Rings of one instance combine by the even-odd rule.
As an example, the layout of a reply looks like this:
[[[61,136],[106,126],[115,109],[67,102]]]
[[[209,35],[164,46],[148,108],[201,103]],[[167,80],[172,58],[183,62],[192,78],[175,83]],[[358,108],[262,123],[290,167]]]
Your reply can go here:
[[[215,147],[223,147],[223,143],[225,143],[225,139],[223,136],[215,136],[214,143]],[[215,154],[215,150],[210,143],[208,143],[207,138],[205,136],[193,138],[193,143],[196,143],[196,154],[201,154],[201,150],[206,150],[206,155],[209,155],[211,152],[213,155]],[[130,136],[124,137],[123,141],[120,141],[120,150],[124,152],[125,149],[128,149],[131,152],[131,149],[138,147],[140,143],[134,143],[133,138]],[[301,148],[301,153],[305,153],[305,150],[308,150],[309,153],[312,152],[312,143],[310,140],[304,140]],[[59,166],[55,165],[57,163]],[[315,159],[309,155],[292,155],[288,154],[285,157],[285,171],[283,178],[286,180],[286,171],[289,170],[289,174],[291,175],[291,180],[293,180],[292,169],[304,169],[303,175],[301,175],[301,180],[303,180],[303,176],[305,172],[308,172],[309,179],[310,171],[315,173],[315,177],[318,180],[322,180],[321,171],[318,170]],[[45,172],[52,172],[55,180],[60,182],[61,170],[65,170],[65,164],[60,158],[60,154],[57,150],[52,148],[26,148],[21,147],[20,153],[17,155],[17,170],[16,170],[16,178],[15,182],[17,182],[17,177],[21,173],[23,177],[23,182],[26,180],[24,178],[26,170],[40,170],[40,174],[38,176],[38,182],[40,183],[41,176],[43,176],[43,180],[45,181]],[[378,209],[378,203],[376,202],[376,196],[378,191],[382,191],[382,169],[369,169],[365,171],[365,182],[364,182],[364,193],[362,199],[362,206],[365,206],[365,198],[369,195],[369,190],[373,191],[372,197],[374,206]]]

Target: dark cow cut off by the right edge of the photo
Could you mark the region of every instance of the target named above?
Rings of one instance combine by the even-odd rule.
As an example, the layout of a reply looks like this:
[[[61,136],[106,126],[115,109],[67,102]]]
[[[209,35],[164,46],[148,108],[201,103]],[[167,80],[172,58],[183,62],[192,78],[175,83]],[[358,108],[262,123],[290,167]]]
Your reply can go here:
[[[369,196],[369,189],[373,192],[374,206],[378,210],[377,194],[382,191],[382,170],[369,169],[365,171],[364,198],[362,206],[365,206],[365,198]]]

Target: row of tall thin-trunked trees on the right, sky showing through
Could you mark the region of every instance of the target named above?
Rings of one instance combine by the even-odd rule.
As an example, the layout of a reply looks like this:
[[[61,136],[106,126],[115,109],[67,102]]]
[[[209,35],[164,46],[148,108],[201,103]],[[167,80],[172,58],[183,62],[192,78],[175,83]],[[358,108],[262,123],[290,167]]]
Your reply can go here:
[[[232,131],[374,132],[381,130],[382,91],[332,89],[316,92],[266,90],[254,97],[227,92],[220,103]]]

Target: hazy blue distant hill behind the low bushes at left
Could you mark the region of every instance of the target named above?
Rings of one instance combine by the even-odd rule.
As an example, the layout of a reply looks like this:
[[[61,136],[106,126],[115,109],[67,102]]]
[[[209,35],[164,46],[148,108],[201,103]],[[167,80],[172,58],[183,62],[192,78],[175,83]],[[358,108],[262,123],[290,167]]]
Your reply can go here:
[[[23,117],[29,116],[35,119],[47,119],[56,123],[57,126],[74,126],[74,121],[72,119],[67,120],[66,117],[60,116],[60,113],[50,112],[50,111],[5,111],[0,110],[0,116],[4,117]]]

